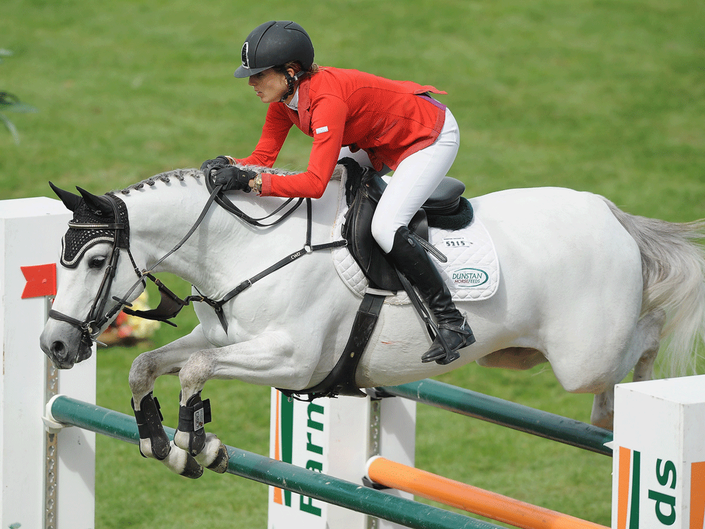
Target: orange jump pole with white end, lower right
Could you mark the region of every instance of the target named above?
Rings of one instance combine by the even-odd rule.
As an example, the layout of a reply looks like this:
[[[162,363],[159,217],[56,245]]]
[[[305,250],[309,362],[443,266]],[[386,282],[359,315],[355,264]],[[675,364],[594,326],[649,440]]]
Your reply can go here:
[[[418,468],[374,456],[367,477],[379,485],[410,492],[471,513],[525,529],[608,529],[589,521],[524,501],[442,478]]]

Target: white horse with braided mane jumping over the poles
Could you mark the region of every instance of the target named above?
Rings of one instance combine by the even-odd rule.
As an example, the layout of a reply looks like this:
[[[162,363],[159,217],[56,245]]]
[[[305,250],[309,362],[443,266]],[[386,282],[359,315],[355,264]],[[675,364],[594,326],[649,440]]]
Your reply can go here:
[[[341,166],[338,173],[344,178]],[[340,188],[333,180],[324,196],[312,201],[314,245],[341,238],[339,226],[332,227]],[[83,194],[83,202],[96,207],[97,199]],[[221,300],[305,243],[305,207],[281,224],[258,228],[212,205],[188,241],[161,260],[207,202],[202,173],[171,171],[115,195],[128,212],[134,266],[126,248],[115,250],[120,259],[106,286],[104,272],[114,250],[106,238],[82,249],[73,268],[61,267],[54,311],[68,317],[50,319],[40,339],[57,367],[70,368],[90,355],[90,339],[80,324],[94,312],[94,300],[106,300],[103,309],[110,312],[121,307],[113,296],[128,302],[141,293],[142,284],[130,291],[135,269],[176,274],[195,294]],[[73,204],[62,200],[76,209],[80,197],[71,196]],[[239,192],[228,196],[252,217],[269,214],[282,202]],[[548,362],[567,391],[596,395],[591,422],[611,428],[614,385],[632,369],[635,380],[651,379],[663,339],[681,361],[692,362],[705,327],[705,253],[695,242],[704,236],[704,220],[675,224],[636,217],[599,195],[563,188],[505,190],[470,202],[501,264],[494,296],[458,303],[477,342],[448,365],[421,363],[429,345],[422,320],[412,305],[385,304],[355,373],[358,387],[412,382],[473,361],[515,370]],[[307,253],[228,301],[223,305],[227,331],[211,307],[195,303],[200,324],[187,336],[142,353],[130,370],[138,423],[142,413],[142,453],[185,475],[198,475],[201,465],[223,470],[221,444],[213,434],[198,442],[193,431],[180,427],[171,442],[159,433],[155,379],[178,374],[181,409],[195,413],[190,430],[198,430],[200,392],[209,379],[290,390],[321,382],[348,341],[358,305],[360,297],[334,269],[331,250]],[[92,336],[109,322],[99,323],[100,329],[90,329]]]

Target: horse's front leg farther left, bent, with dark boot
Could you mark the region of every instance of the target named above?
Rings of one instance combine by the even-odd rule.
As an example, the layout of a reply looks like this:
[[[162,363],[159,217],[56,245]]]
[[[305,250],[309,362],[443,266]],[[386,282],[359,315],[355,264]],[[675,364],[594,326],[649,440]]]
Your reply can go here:
[[[161,375],[176,374],[190,355],[207,346],[200,326],[191,334],[135,358],[130,368],[130,389],[137,428],[140,432],[140,454],[162,461],[174,472],[199,478],[203,468],[195,459],[168,439],[159,402],[153,396],[154,381]]]

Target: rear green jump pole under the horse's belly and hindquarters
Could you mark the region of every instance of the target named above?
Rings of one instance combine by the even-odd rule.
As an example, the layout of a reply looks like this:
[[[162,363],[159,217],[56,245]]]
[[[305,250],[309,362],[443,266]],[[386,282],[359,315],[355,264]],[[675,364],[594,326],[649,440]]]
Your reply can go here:
[[[436,408],[612,456],[612,449],[605,446],[605,443],[613,440],[612,432],[579,420],[536,410],[433,379],[379,389],[388,394],[412,399]]]

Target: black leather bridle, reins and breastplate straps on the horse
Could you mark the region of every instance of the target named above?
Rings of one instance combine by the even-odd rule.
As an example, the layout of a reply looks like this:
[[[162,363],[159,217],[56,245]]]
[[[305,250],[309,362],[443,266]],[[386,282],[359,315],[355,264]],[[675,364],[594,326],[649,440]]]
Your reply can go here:
[[[204,205],[200,216],[198,219],[195,221],[195,224],[191,227],[191,229],[186,233],[186,235],[181,239],[181,241],[174,246],[171,250],[169,250],[161,259],[159,259],[154,266],[152,266],[152,269],[147,270],[147,269],[140,269],[140,267],[137,266],[135,262],[135,258],[132,255],[132,252],[130,251],[130,245],[129,242],[126,243],[125,245],[121,245],[121,234],[124,232],[126,229],[128,229],[128,226],[126,223],[121,223],[121,222],[114,222],[114,223],[83,223],[83,222],[75,222],[71,221],[68,223],[69,228],[71,229],[107,229],[107,230],[113,230],[114,231],[114,238],[113,238],[113,243],[112,243],[112,249],[111,249],[111,256],[109,263],[105,269],[104,275],[102,282],[100,284],[100,288],[98,289],[98,292],[93,300],[93,304],[88,312],[87,317],[85,317],[84,320],[78,320],[77,318],[62,314],[59,311],[56,310],[49,310],[49,317],[54,320],[59,320],[62,322],[67,322],[68,324],[73,325],[74,327],[77,327],[83,334],[83,337],[86,339],[86,341],[97,341],[97,336],[99,336],[101,329],[104,324],[107,322],[111,321],[112,318],[120,311],[123,310],[123,312],[127,313],[128,315],[135,315],[137,317],[142,317],[147,320],[157,320],[160,322],[164,322],[167,324],[172,325],[173,327],[176,327],[176,324],[174,324],[171,321],[173,317],[176,317],[180,310],[184,308],[185,306],[189,305],[190,302],[202,302],[206,303],[207,305],[210,305],[216,312],[216,315],[219,318],[219,321],[221,322],[221,325],[223,326],[223,330],[227,333],[228,332],[228,323],[225,318],[225,315],[223,314],[223,305],[228,303],[228,301],[232,300],[237,296],[240,292],[244,291],[245,288],[248,288],[252,286],[252,284],[255,283],[255,281],[259,281],[259,279],[262,279],[262,277],[271,274],[271,272],[274,272],[275,270],[280,269],[281,267],[288,265],[290,262],[293,262],[297,260],[299,257],[302,257],[303,255],[307,255],[309,253],[312,253],[316,250],[326,250],[329,248],[338,248],[341,246],[347,245],[347,241],[344,239],[341,241],[333,241],[332,243],[325,243],[321,245],[312,245],[311,244],[311,236],[312,236],[312,204],[311,204],[311,199],[303,199],[303,198],[298,198],[298,199],[293,199],[290,198],[286,200],[280,207],[278,207],[274,212],[272,212],[269,215],[266,215],[266,217],[262,217],[260,219],[254,219],[245,212],[243,212],[240,208],[238,208],[233,202],[226,197],[226,195],[223,195],[221,193],[221,188],[223,186],[214,186],[214,183],[212,182],[211,178],[205,178],[206,181],[206,186],[207,189],[210,192],[210,195],[208,197],[208,200],[206,204]],[[117,207],[117,201],[116,198],[113,197],[112,195],[104,195],[106,199],[109,200],[111,206],[113,207],[114,214],[115,214],[115,219],[116,221],[120,218],[118,216],[118,207]],[[269,224],[262,224],[260,221],[269,219],[269,217],[274,216],[278,212],[280,212],[282,209],[287,207],[290,202],[293,200],[296,200],[293,206],[289,207],[278,219],[275,221],[269,223]],[[289,217],[290,214],[292,214],[301,204],[302,202],[306,200],[307,202],[307,232],[306,232],[306,243],[304,245],[304,248],[302,250],[299,250],[298,252],[295,252],[293,254],[290,254],[283,259],[279,260],[276,262],[274,265],[271,267],[265,269],[263,272],[260,272],[259,274],[251,277],[250,279],[246,279],[242,283],[240,283],[238,286],[233,288],[230,292],[226,294],[226,296],[223,297],[223,299],[216,301],[212,300],[210,298],[207,298],[206,296],[187,296],[186,298],[179,298],[175,293],[173,293],[171,290],[166,288],[159,279],[157,279],[153,274],[154,274],[154,269],[163,262],[166,257],[171,255],[172,253],[176,252],[181,246],[188,241],[188,238],[192,236],[192,234],[196,231],[197,227],[200,226],[201,222],[203,221],[204,217],[206,216],[208,210],[210,209],[211,205],[213,202],[216,202],[218,205],[226,209],[228,212],[231,214],[235,215],[235,217],[238,217],[242,219],[243,221],[247,222],[247,224],[250,224],[252,226],[257,226],[257,227],[269,227],[269,226],[275,226],[276,224],[279,224],[281,221]],[[133,269],[135,270],[135,274],[137,274],[137,281],[135,281],[135,284],[125,293],[124,296],[117,297],[117,296],[112,296],[112,299],[117,302],[116,305],[114,305],[111,310],[108,312],[105,312],[106,310],[106,305],[108,302],[108,297],[110,295],[110,289],[113,284],[113,279],[116,274],[117,266],[118,266],[118,258],[120,257],[120,250],[124,249],[127,250],[128,256],[130,257],[130,262],[133,265]],[[154,282],[154,284],[157,286],[159,289],[159,294],[161,296],[161,300],[159,301],[159,305],[157,308],[152,309],[152,310],[132,310],[130,307],[132,307],[132,304],[128,302],[128,298],[130,295],[135,291],[135,288],[139,286],[140,284],[143,284],[146,286],[147,281],[146,279],[149,279],[150,281]]]

